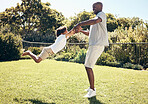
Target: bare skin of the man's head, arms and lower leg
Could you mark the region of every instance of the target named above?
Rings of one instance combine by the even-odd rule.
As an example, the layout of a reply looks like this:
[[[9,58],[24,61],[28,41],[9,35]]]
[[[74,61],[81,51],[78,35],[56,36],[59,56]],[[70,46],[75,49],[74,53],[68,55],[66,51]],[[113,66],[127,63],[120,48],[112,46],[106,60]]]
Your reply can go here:
[[[97,15],[101,11],[102,11],[102,3],[94,3],[93,4],[93,12],[94,12],[94,14]],[[99,22],[102,22],[102,19],[99,18],[99,17],[96,18],[96,19],[90,19],[90,20],[82,21],[82,22],[78,23],[74,27],[74,29],[75,29],[76,33],[82,32],[83,34],[89,36],[89,31],[81,30],[81,26],[94,25],[94,24],[97,24]],[[90,88],[94,90],[94,74],[93,74],[93,70],[92,70],[92,68],[89,68],[89,67],[85,67],[85,69],[86,69],[86,72],[87,72]]]

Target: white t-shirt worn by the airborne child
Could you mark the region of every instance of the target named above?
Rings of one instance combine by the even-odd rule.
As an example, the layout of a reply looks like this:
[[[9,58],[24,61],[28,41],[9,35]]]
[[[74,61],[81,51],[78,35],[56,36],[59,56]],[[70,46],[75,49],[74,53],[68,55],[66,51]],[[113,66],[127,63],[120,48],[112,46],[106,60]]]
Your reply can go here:
[[[60,35],[57,37],[57,39],[55,40],[55,43],[53,43],[50,48],[52,49],[52,51],[56,54],[57,52],[59,52],[60,50],[62,50],[66,45],[66,35]]]

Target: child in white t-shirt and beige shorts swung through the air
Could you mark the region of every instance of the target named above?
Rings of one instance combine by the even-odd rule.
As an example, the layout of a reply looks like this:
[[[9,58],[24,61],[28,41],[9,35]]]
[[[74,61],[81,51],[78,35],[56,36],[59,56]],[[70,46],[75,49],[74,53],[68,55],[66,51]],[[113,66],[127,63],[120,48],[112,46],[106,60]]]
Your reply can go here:
[[[66,45],[66,40],[74,33],[74,29],[68,32],[66,26],[60,27],[56,30],[57,39],[55,40],[55,43],[53,43],[51,46],[44,47],[38,57],[29,50],[24,52],[22,56],[29,55],[36,63],[39,63],[46,59],[49,55],[56,54],[62,50]]]

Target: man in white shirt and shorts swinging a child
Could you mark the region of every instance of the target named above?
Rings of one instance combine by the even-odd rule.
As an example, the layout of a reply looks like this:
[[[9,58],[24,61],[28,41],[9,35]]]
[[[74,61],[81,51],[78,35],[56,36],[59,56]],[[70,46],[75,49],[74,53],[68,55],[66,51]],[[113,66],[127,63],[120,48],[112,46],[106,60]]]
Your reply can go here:
[[[92,68],[94,67],[97,59],[100,57],[104,51],[105,46],[109,46],[108,34],[106,27],[106,15],[102,12],[103,4],[101,2],[96,2],[93,4],[93,12],[96,17],[91,20],[86,20],[78,23],[74,28],[76,32],[82,32],[89,36],[89,47],[85,58],[85,69],[88,75],[88,80],[90,87],[86,89],[88,93],[84,96],[91,98],[96,96],[96,89],[94,87],[94,74]],[[90,26],[90,31],[81,30],[81,26]]]

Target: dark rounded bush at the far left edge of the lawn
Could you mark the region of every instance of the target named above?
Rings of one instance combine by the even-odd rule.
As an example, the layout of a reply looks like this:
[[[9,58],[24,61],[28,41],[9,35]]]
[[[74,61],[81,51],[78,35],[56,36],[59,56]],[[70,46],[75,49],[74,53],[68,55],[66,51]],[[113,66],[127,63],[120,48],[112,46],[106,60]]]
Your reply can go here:
[[[0,33],[0,61],[11,61],[20,58],[22,42],[19,35]]]

